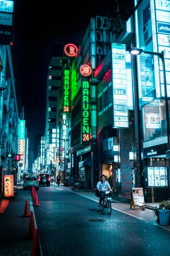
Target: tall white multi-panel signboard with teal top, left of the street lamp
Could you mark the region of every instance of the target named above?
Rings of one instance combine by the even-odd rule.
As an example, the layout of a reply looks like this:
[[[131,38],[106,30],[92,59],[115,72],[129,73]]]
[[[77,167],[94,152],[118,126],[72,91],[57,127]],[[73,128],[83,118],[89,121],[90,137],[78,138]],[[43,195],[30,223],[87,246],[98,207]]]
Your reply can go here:
[[[111,60],[113,128],[128,128],[125,44],[112,43]]]

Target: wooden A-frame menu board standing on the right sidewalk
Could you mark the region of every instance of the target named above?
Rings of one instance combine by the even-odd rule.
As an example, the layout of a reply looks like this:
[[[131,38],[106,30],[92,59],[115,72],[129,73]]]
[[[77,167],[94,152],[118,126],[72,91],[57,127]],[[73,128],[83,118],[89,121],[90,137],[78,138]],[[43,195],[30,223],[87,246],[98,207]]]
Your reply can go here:
[[[132,188],[131,192],[131,200],[130,200],[130,209],[133,208],[135,210],[135,206],[140,206],[140,208],[143,206],[145,210],[145,200],[143,195],[143,188]]]

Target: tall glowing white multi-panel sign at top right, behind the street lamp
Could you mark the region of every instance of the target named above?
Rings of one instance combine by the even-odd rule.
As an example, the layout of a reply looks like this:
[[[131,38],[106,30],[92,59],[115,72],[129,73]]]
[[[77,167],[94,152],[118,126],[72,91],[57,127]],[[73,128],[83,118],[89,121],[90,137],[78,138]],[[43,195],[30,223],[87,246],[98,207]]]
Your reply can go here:
[[[151,6],[151,21],[152,21],[152,36],[153,36],[153,51],[164,51],[165,57],[165,70],[166,70],[166,83],[167,94],[170,96],[170,4],[167,0],[150,0]],[[158,43],[158,44],[157,44]],[[156,61],[155,61],[156,60]],[[157,97],[160,97],[160,84],[161,94],[164,96],[164,81],[163,81],[163,67],[162,61],[154,56],[155,65],[155,82]],[[161,78],[161,79],[160,79]],[[157,84],[159,81],[159,84]],[[159,86],[159,88],[158,88]]]

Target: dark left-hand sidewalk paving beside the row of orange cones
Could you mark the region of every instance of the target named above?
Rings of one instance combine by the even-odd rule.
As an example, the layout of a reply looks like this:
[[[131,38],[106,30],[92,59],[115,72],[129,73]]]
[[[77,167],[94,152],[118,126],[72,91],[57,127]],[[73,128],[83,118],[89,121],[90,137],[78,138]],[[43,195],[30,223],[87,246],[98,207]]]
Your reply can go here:
[[[21,218],[28,199],[31,213],[30,190],[23,191],[23,184],[17,188],[16,199],[10,200],[4,213],[0,213],[0,256],[30,256],[33,240],[25,240],[30,218]]]

